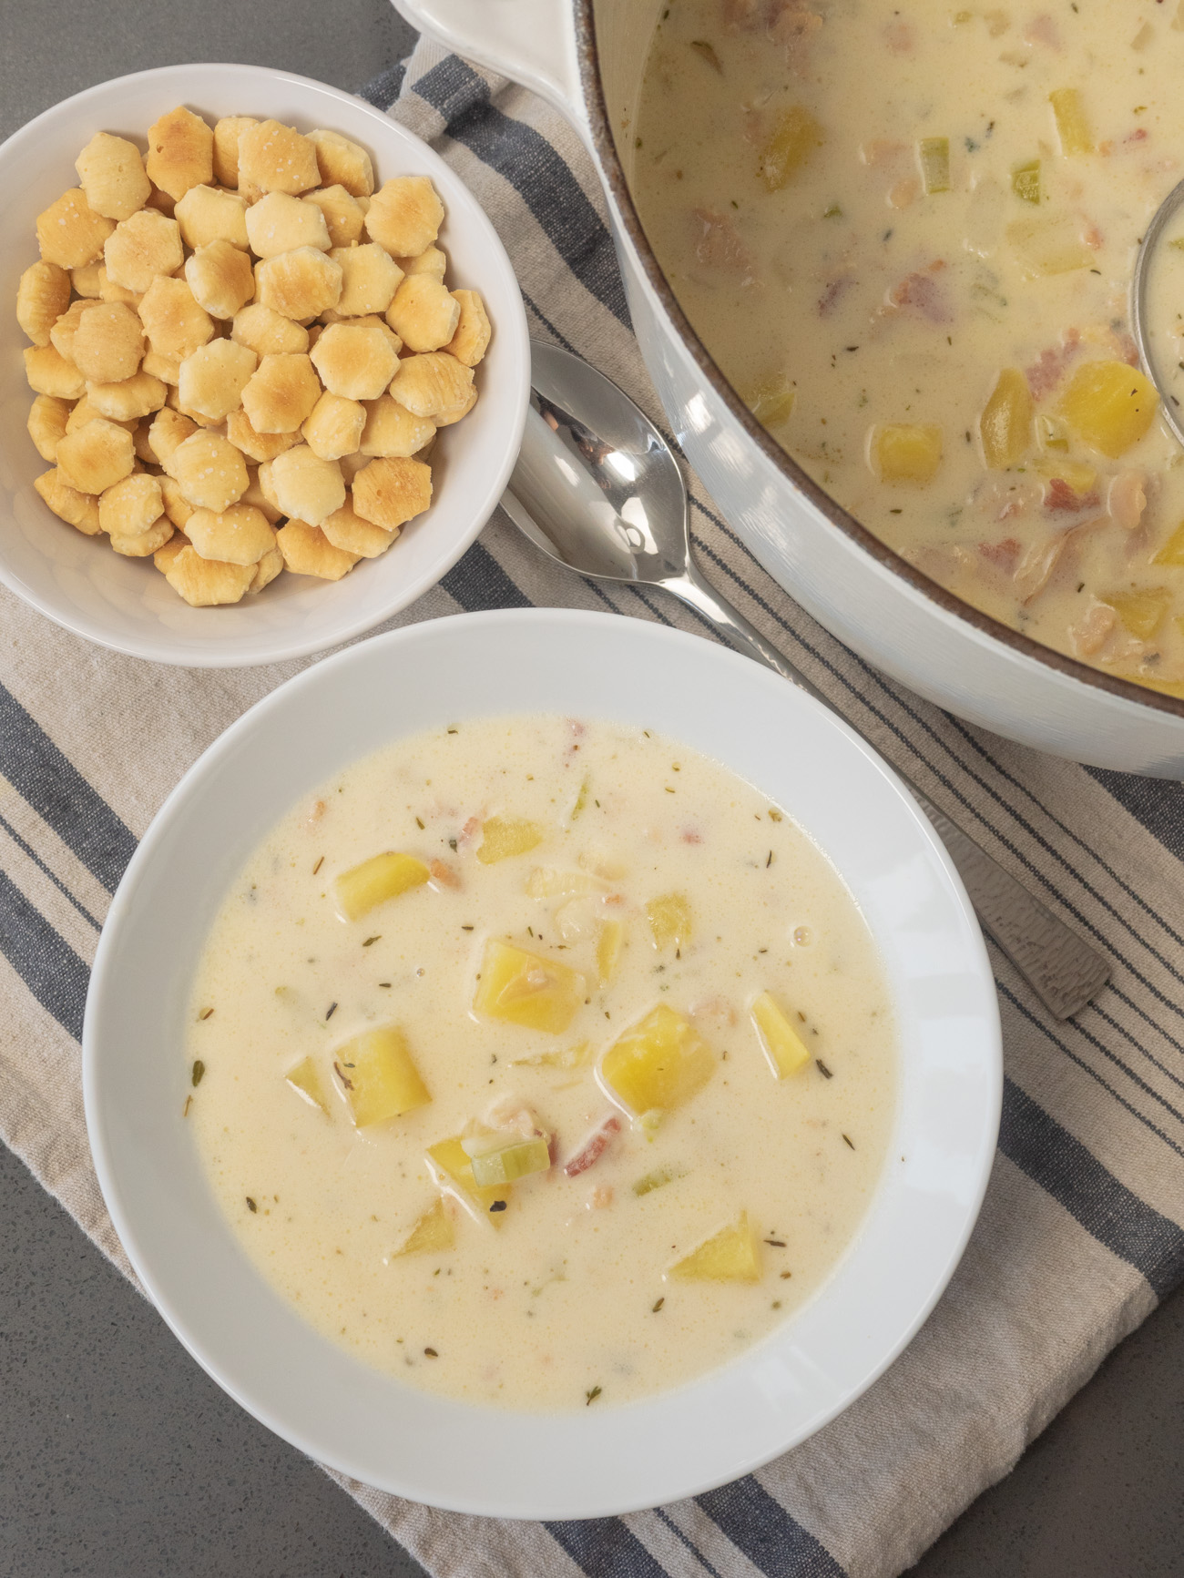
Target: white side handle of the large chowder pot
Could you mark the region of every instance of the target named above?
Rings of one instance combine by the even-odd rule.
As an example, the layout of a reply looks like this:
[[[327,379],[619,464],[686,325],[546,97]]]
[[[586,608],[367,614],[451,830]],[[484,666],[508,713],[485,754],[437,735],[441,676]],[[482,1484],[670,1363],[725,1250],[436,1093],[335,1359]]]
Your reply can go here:
[[[583,128],[576,38],[567,0],[392,0],[458,55],[521,82]]]

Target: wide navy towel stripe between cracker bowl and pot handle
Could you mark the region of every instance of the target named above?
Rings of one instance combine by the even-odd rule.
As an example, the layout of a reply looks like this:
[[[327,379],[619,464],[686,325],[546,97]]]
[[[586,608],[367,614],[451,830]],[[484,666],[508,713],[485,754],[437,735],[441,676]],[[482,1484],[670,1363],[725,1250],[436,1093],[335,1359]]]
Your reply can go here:
[[[510,181],[576,279],[628,328],[613,237],[551,144],[494,109],[485,77],[456,55],[425,71],[410,92],[444,117],[455,142]]]

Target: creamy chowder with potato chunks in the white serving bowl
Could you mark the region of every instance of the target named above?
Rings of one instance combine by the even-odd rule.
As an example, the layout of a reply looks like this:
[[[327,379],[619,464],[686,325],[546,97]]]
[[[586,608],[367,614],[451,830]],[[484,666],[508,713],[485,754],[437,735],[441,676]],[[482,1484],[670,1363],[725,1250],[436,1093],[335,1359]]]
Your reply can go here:
[[[235,881],[186,1105],[254,1264],[412,1385],[609,1406],[758,1341],[859,1229],[884,972],[788,816],[654,732],[458,723]]]

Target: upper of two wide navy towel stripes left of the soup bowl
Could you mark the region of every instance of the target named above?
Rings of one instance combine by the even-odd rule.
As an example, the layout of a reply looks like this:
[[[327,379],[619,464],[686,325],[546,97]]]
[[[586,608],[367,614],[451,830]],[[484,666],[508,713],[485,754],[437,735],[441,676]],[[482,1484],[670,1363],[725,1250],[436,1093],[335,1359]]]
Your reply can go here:
[[[3,685],[0,773],[114,893],[136,849],[131,830]]]

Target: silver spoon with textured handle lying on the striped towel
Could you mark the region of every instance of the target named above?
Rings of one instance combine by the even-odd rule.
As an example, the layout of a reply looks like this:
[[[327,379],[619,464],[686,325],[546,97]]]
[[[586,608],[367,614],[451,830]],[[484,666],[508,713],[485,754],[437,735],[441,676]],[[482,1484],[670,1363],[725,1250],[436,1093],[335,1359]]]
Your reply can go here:
[[[655,585],[682,598],[733,645],[830,704],[704,579],[690,551],[687,489],[654,423],[595,368],[556,346],[532,342],[526,434],[502,507],[556,559],[595,581]],[[930,805],[979,920],[1058,1019],[1083,1008],[1110,966],[972,838]]]

